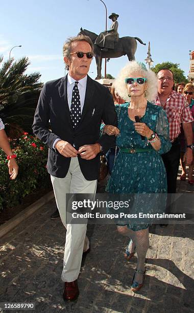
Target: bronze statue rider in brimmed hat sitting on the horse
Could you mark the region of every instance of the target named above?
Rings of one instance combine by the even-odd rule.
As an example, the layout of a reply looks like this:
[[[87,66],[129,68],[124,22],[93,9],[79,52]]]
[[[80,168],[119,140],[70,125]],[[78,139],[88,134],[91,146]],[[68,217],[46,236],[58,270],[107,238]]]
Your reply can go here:
[[[112,19],[112,25],[110,30],[105,30],[104,32],[100,33],[100,35],[95,39],[95,43],[98,44],[99,47],[102,47],[102,52],[107,52],[108,49],[114,49],[114,42],[118,41],[118,14],[112,13],[109,18]]]

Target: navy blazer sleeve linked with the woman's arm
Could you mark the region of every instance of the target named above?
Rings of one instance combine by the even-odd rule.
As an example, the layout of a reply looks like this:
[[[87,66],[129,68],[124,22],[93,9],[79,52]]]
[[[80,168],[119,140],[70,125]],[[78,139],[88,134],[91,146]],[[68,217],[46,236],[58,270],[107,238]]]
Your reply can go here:
[[[104,110],[102,120],[105,125],[117,126],[117,114],[115,110],[114,101],[110,91],[106,90],[104,98]],[[97,141],[103,147],[103,154],[105,154],[115,142],[115,136],[109,136],[106,133],[103,134]]]

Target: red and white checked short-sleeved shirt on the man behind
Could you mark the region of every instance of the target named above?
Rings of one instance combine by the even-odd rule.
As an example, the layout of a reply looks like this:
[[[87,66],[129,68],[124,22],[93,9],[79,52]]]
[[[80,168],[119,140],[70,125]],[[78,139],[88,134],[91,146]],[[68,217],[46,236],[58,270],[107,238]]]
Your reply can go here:
[[[169,122],[169,138],[172,142],[181,132],[181,123],[190,123],[193,121],[188,102],[183,95],[175,91],[172,91],[164,105],[161,105],[158,96],[156,96],[153,103],[162,106],[166,112]]]

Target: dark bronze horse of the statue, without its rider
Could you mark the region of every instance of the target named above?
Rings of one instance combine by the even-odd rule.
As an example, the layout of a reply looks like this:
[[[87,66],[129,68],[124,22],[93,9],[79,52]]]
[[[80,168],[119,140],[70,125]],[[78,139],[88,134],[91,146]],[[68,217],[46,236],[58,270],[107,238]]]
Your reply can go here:
[[[90,37],[91,41],[95,42],[95,39],[98,37],[97,34],[88,31],[87,29],[80,28],[80,32],[78,35],[85,35]],[[102,59],[103,58],[119,58],[120,56],[126,55],[128,56],[129,61],[135,60],[135,52],[137,49],[137,41],[146,46],[146,43],[138,37],[122,37],[118,39],[118,42],[114,43],[114,49],[108,49],[107,52],[101,51],[101,47],[97,44],[94,44],[94,55],[95,62],[97,66],[97,76],[95,79],[101,79],[101,70],[102,70]]]

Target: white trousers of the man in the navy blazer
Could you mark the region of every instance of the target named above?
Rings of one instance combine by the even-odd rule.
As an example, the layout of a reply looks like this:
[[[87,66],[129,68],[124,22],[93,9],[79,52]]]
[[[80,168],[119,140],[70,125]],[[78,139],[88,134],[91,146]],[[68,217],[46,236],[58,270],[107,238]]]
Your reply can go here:
[[[71,158],[69,170],[64,178],[51,175],[56,204],[61,220],[65,226],[66,241],[63,259],[62,281],[74,281],[80,273],[84,239],[87,225],[66,224],[66,193],[95,194],[97,180],[87,181],[80,169],[78,158]]]

